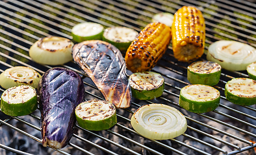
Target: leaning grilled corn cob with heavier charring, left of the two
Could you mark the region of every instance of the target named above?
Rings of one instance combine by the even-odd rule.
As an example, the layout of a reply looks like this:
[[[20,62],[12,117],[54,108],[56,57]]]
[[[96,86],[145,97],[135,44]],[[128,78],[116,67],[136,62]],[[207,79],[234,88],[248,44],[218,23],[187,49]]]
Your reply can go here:
[[[171,38],[172,30],[169,26],[159,22],[147,25],[127,49],[127,68],[132,72],[151,70],[168,48]]]

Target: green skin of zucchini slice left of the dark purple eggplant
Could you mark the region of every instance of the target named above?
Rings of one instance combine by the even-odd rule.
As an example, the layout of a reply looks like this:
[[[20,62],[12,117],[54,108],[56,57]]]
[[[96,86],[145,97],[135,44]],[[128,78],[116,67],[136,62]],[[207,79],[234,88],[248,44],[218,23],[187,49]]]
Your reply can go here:
[[[24,85],[22,85],[23,87]],[[21,86],[18,86],[21,87]],[[24,86],[24,87],[31,87],[31,86]],[[16,87],[11,87],[16,88]],[[32,87],[31,87],[32,88]],[[32,88],[34,89],[34,88]],[[6,94],[6,91],[3,92],[1,96],[1,110],[3,113],[5,113],[8,116],[25,116],[28,114],[31,114],[36,110],[37,108],[37,96],[36,96],[36,90],[34,89],[34,96],[29,99],[28,101],[25,101],[23,103],[8,103],[8,101],[4,101],[3,96]]]

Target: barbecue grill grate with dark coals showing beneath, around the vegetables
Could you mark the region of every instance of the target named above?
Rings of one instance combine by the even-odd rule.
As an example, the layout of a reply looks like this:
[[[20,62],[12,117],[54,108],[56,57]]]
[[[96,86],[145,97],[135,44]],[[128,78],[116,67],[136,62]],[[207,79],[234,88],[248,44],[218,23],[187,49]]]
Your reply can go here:
[[[253,0],[3,0],[0,1],[0,73],[17,65],[31,67],[40,74],[52,68],[34,63],[28,55],[29,48],[40,37],[51,35],[72,39],[71,28],[84,21],[100,23],[106,28],[127,26],[139,32],[151,23],[153,15],[159,12],[174,14],[183,5],[197,6],[205,17],[205,52],[211,43],[221,39],[256,47],[256,4]],[[205,55],[201,59],[205,59]],[[118,110],[118,123],[109,130],[92,132],[76,125],[70,143],[60,150],[42,147],[39,110],[22,117],[10,117],[0,112],[0,154],[256,154],[253,148],[256,147],[255,105],[238,106],[224,96],[225,83],[232,78],[248,78],[247,72],[222,70],[220,82],[214,86],[222,95],[220,107],[213,112],[194,114],[178,104],[179,90],[189,84],[187,66],[188,63],[173,57],[170,46],[153,68],[165,79],[165,90],[160,98],[150,101],[133,99],[130,108]],[[103,99],[74,62],[61,67],[83,76],[86,99]],[[3,91],[0,88],[0,95]],[[130,118],[136,108],[150,103],[163,103],[180,110],[188,121],[185,134],[164,141],[139,136],[131,127]],[[14,139],[21,139],[21,142],[12,143]],[[22,139],[32,142],[22,143]]]

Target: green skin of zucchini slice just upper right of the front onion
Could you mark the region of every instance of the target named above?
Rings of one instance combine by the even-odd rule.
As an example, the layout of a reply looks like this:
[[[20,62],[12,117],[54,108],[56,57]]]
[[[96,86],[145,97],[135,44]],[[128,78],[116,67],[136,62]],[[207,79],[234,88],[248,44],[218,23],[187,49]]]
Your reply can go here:
[[[190,86],[192,85],[188,85],[186,87],[190,87]],[[207,101],[195,101],[193,99],[186,98],[183,95],[183,92],[181,91],[181,94],[179,95],[179,105],[185,108],[186,110],[194,113],[201,114],[205,112],[210,112],[212,110],[215,110],[220,105],[220,93],[218,94],[218,97],[214,99],[209,99]]]

